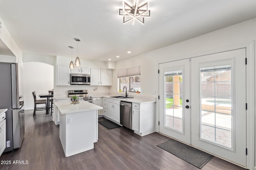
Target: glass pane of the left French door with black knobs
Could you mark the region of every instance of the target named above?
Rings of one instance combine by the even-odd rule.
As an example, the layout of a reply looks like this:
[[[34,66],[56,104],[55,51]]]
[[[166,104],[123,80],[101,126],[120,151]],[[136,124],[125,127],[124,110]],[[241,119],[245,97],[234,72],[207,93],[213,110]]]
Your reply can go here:
[[[164,72],[165,127],[183,132],[182,70]]]

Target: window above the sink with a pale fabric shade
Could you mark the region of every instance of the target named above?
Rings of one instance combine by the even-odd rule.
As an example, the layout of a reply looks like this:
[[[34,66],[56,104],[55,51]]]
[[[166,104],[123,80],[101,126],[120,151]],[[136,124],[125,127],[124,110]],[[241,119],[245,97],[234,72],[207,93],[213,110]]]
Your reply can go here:
[[[118,70],[118,90],[124,86],[128,92],[140,92],[140,66]]]

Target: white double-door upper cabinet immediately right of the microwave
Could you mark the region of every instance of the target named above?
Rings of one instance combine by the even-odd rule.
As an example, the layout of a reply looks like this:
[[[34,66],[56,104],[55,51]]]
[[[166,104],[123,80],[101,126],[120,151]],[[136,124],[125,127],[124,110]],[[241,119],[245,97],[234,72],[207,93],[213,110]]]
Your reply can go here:
[[[112,70],[91,68],[91,86],[112,86]]]

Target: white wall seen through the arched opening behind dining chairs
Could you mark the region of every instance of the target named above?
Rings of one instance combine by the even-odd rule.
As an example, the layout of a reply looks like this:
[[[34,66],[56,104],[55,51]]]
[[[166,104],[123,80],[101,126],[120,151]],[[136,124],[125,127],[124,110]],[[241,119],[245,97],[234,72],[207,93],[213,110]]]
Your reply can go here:
[[[40,62],[23,63],[24,109],[34,109],[32,92],[36,92],[36,99],[39,100],[38,94],[53,89],[53,80],[54,66]]]

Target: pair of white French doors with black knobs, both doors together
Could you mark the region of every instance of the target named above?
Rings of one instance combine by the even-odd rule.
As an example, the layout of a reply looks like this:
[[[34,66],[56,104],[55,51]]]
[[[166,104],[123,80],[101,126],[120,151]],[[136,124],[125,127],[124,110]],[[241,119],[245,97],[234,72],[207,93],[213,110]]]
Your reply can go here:
[[[159,64],[160,133],[246,166],[245,58],[238,49]]]

